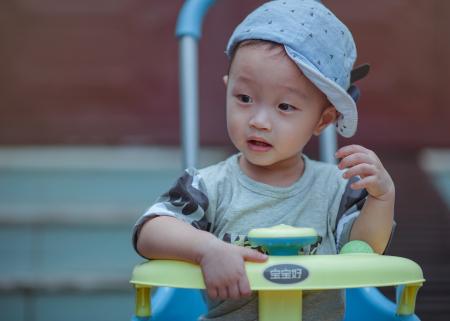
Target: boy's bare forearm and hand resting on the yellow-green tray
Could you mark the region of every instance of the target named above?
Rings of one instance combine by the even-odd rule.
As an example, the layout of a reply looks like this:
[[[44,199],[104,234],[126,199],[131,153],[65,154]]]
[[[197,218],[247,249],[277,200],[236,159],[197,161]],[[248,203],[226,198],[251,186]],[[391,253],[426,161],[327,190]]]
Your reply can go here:
[[[208,295],[223,300],[251,294],[244,261],[267,260],[258,251],[225,243],[209,232],[167,216],[155,217],[144,224],[137,249],[148,258],[199,264]]]

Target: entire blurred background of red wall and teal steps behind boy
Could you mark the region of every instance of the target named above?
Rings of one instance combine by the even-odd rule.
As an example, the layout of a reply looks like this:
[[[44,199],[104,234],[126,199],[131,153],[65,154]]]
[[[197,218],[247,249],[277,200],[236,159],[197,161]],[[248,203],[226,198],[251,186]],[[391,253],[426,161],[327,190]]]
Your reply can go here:
[[[223,53],[262,0],[217,0],[200,42],[202,164],[231,152]],[[126,320],[130,231],[180,171],[182,0],[0,2],[0,319]],[[423,320],[450,315],[450,1],[324,1],[350,27],[359,130],[396,182],[390,254],[416,260]],[[316,141],[307,148],[316,154]],[[392,296],[392,293],[386,293]]]

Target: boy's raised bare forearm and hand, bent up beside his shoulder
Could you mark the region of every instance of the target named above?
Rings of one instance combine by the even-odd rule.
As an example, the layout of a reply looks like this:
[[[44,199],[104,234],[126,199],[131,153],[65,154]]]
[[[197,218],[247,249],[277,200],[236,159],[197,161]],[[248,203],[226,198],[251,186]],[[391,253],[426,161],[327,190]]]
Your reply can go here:
[[[365,188],[369,193],[360,215],[355,220],[351,240],[363,240],[377,253],[383,253],[392,231],[394,220],[395,187],[377,155],[362,146],[340,148],[336,157],[342,160],[339,168],[347,168],[344,178],[360,176],[351,188]]]

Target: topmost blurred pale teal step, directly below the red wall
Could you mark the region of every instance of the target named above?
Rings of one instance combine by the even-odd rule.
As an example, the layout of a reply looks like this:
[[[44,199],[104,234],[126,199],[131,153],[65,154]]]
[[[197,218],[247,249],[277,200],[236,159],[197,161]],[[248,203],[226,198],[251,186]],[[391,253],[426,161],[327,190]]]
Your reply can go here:
[[[205,149],[200,166],[223,159]],[[129,223],[181,174],[176,148],[0,148],[0,224]]]

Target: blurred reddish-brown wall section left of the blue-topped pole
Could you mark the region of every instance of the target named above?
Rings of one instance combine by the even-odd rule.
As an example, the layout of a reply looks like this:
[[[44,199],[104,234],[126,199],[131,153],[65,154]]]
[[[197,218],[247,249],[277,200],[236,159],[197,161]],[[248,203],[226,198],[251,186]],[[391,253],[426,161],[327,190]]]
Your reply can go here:
[[[180,6],[1,1],[0,143],[177,140]]]

